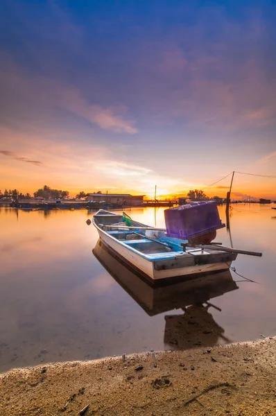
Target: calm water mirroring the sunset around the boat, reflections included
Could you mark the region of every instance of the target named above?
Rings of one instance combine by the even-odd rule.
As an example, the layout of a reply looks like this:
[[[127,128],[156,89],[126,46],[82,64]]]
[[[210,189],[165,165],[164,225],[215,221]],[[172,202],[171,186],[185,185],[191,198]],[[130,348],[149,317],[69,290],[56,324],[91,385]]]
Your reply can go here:
[[[159,227],[163,211],[127,210]],[[263,252],[233,263],[259,284],[232,272],[221,281],[212,277],[205,288],[197,281],[192,292],[192,286],[153,291],[138,281],[97,245],[87,218],[85,210],[45,215],[0,208],[0,371],[276,335],[276,211],[269,205],[234,205],[230,218],[234,247]],[[226,229],[216,241],[230,245]],[[221,311],[191,306],[184,313],[195,293],[196,301],[206,296]]]

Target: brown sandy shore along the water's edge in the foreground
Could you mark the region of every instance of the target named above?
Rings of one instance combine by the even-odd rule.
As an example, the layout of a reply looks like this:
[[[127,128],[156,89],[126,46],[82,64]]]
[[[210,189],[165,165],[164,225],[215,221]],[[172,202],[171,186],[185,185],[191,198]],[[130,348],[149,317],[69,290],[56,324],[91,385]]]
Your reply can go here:
[[[0,415],[276,415],[275,349],[266,338],[11,370]]]

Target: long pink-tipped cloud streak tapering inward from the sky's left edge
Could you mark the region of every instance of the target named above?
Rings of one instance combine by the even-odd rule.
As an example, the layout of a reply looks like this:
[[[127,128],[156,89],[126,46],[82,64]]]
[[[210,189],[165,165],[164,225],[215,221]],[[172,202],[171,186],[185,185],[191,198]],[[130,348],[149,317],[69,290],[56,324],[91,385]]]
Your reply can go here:
[[[6,116],[10,120],[9,112],[12,112],[12,118],[17,112],[17,123],[21,116],[24,116],[25,122],[30,119],[33,123],[35,116],[47,121],[49,118],[53,119],[53,114],[60,116],[60,112],[65,110],[103,130],[130,135],[138,132],[135,120],[126,117],[128,108],[125,105],[112,105],[112,99],[109,105],[101,105],[96,102],[97,98],[85,96],[77,86],[62,83],[49,76],[30,77],[26,70],[15,64],[8,53],[1,52],[0,61],[2,101],[12,103],[11,106],[3,107],[2,119]]]

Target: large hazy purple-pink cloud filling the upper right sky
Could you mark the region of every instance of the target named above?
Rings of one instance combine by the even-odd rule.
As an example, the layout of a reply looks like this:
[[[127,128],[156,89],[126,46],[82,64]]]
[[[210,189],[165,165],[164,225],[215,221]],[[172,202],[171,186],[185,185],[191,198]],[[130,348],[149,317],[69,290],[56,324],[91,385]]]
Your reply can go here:
[[[184,124],[186,132],[251,130],[245,139],[275,124],[275,51],[264,17],[251,12],[233,22],[223,8],[202,8],[193,24],[137,44],[131,87],[152,123]]]

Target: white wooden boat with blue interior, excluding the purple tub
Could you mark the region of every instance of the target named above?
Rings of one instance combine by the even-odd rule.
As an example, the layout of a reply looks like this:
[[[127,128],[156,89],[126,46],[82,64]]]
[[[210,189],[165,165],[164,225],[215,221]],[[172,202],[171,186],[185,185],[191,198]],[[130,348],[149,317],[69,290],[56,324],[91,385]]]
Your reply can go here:
[[[115,214],[100,209],[94,214],[92,223],[111,252],[154,284],[228,270],[238,253],[261,256],[261,253],[211,243],[190,244],[187,240],[168,236],[166,229],[148,227],[132,220],[126,213]]]

